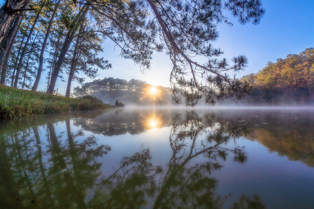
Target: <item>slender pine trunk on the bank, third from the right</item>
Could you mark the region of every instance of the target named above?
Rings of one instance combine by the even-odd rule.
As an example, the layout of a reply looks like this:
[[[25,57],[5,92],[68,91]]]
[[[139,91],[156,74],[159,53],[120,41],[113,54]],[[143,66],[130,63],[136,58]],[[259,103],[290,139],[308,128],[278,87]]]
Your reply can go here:
[[[32,87],[32,91],[36,91],[37,90],[38,83],[39,83],[39,81],[41,79],[41,75],[42,75],[42,71],[43,71],[43,64],[44,64],[44,52],[45,52],[46,44],[47,44],[48,37],[49,37],[50,31],[51,31],[51,26],[52,26],[52,23],[53,23],[53,19],[54,19],[54,16],[56,14],[56,11],[58,10],[60,2],[61,2],[61,0],[58,0],[58,2],[56,3],[56,5],[54,7],[54,10],[52,12],[51,18],[49,20],[49,25],[48,25],[48,28],[47,28],[47,31],[46,31],[46,34],[45,34],[45,38],[44,38],[44,41],[43,41],[43,46],[42,46],[42,50],[41,50],[41,54],[40,54],[37,75],[36,75],[36,79],[34,81],[34,85]]]

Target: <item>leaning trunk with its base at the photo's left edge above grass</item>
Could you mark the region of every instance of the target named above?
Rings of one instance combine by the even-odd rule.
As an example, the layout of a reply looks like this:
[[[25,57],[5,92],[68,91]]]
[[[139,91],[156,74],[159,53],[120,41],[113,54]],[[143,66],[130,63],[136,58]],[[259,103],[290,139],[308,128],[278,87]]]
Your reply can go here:
[[[24,14],[24,12],[23,12],[23,14]],[[4,53],[3,61],[1,60],[1,62],[0,62],[0,70],[2,69],[0,83],[3,83],[3,84],[6,83],[6,73],[7,73],[7,68],[8,68],[9,57],[10,57],[10,54],[11,54],[11,51],[12,51],[12,48],[14,45],[14,40],[16,38],[18,28],[22,23],[22,17],[23,17],[23,15],[20,14],[14,20],[14,24],[13,24],[13,27],[10,31],[10,35],[9,35],[10,39],[9,39],[9,41],[6,41],[8,43],[8,45],[7,45],[8,47],[5,49],[6,52]],[[5,42],[5,41],[3,41],[3,42]]]

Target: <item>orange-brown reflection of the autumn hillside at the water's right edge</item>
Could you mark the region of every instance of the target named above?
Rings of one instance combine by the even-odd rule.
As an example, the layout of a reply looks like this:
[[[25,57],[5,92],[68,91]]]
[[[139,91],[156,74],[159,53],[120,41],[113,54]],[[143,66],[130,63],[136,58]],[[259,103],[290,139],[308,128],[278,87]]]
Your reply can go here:
[[[290,160],[301,160],[314,166],[314,126],[309,115],[277,115],[267,120],[269,124],[260,124],[255,117],[251,132],[246,138],[257,140],[271,152],[288,156]],[[299,114],[298,114],[299,116]],[[297,119],[296,119],[297,118]],[[263,119],[262,119],[263,120]],[[260,126],[257,126],[260,124]]]

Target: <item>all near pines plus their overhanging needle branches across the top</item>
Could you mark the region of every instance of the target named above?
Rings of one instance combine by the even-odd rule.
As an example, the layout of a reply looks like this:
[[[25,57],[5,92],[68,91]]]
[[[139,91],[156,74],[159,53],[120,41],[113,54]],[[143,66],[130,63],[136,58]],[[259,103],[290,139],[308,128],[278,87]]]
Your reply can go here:
[[[243,69],[246,58],[236,56],[228,65],[211,43],[218,38],[219,23],[232,25],[228,15],[241,24],[257,24],[263,14],[260,0],[7,0],[0,9],[1,82],[36,90],[46,71],[52,94],[66,73],[69,96],[71,81],[84,80],[78,71],[94,78],[97,70],[111,67],[99,57],[107,39],[141,70],[150,67],[153,51],[165,50],[173,64],[176,103],[242,99],[247,86],[229,75]]]

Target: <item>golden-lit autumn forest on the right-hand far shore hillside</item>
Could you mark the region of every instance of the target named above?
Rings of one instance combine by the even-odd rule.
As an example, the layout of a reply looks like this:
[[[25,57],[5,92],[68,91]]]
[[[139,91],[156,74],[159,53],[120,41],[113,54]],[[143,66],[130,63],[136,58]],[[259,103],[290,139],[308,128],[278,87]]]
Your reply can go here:
[[[241,80],[252,87],[245,103],[313,103],[314,49],[289,54],[285,59],[277,59],[275,63],[268,62],[258,73],[243,76]]]

